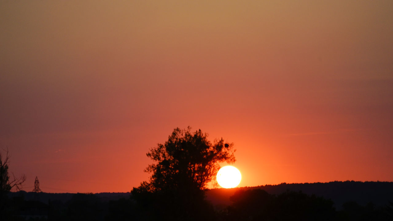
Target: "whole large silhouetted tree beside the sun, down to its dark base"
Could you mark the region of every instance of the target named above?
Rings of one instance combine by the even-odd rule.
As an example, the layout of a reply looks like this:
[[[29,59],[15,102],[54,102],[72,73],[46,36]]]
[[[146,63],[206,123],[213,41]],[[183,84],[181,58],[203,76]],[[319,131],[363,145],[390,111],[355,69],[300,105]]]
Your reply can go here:
[[[173,130],[168,141],[150,149],[147,156],[156,163],[146,168],[149,182],[132,190],[143,219],[206,220],[213,207],[204,200],[203,190],[219,170],[219,162],[235,162],[233,144],[208,140],[201,130]],[[143,212],[145,211],[145,212]]]

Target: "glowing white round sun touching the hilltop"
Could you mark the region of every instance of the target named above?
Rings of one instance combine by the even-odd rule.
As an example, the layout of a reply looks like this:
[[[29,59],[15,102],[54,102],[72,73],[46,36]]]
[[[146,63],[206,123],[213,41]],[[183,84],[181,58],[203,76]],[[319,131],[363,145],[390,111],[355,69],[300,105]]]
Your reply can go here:
[[[239,185],[242,175],[234,166],[224,166],[217,173],[217,182],[223,188],[234,188]]]

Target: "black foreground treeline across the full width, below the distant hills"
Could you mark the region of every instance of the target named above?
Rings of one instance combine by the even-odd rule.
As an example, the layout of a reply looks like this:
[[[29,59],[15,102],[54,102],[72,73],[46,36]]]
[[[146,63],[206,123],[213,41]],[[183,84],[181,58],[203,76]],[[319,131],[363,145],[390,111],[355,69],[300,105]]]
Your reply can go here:
[[[349,201],[336,210],[333,201],[303,192],[269,194],[262,189],[239,190],[231,204],[215,207],[204,199],[181,199],[177,193],[141,193],[133,197],[105,201],[94,194],[73,194],[65,203],[6,199],[4,220],[392,220],[393,203],[362,206]],[[182,202],[185,204],[178,204]]]

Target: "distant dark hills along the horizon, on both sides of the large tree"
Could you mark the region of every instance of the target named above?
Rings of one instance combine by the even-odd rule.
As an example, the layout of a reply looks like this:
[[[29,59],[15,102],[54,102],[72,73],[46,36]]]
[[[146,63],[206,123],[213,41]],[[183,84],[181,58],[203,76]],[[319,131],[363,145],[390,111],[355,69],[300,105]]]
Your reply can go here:
[[[248,189],[263,189],[270,194],[280,194],[286,190],[303,192],[308,195],[331,199],[334,207],[341,209],[343,203],[354,201],[362,206],[372,202],[375,206],[384,206],[388,201],[393,202],[393,182],[359,182],[359,181],[334,181],[326,183],[281,183],[278,185],[265,185],[254,187],[241,187],[232,189],[211,189],[206,191],[207,200],[215,206],[228,206],[231,204],[230,196],[236,191]],[[10,192],[10,198],[22,198],[27,201],[37,200],[48,204],[48,201],[61,201],[66,203],[74,193],[33,193],[33,192]],[[129,199],[131,193],[95,193],[102,202],[118,200],[120,198]]]

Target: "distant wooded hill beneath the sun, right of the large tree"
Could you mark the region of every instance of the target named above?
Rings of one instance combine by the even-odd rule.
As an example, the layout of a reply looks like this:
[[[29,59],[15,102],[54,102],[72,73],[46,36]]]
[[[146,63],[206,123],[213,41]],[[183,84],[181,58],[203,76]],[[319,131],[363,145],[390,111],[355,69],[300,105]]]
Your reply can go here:
[[[354,201],[362,206],[374,203],[376,206],[385,206],[388,201],[393,202],[393,182],[360,182],[360,181],[334,181],[316,183],[281,183],[278,185],[265,185],[255,187],[241,187],[232,189],[211,189],[206,197],[215,205],[227,206],[231,204],[230,196],[239,190],[262,189],[270,194],[280,194],[286,190],[303,192],[308,195],[331,199],[334,207],[341,209],[343,203]]]

